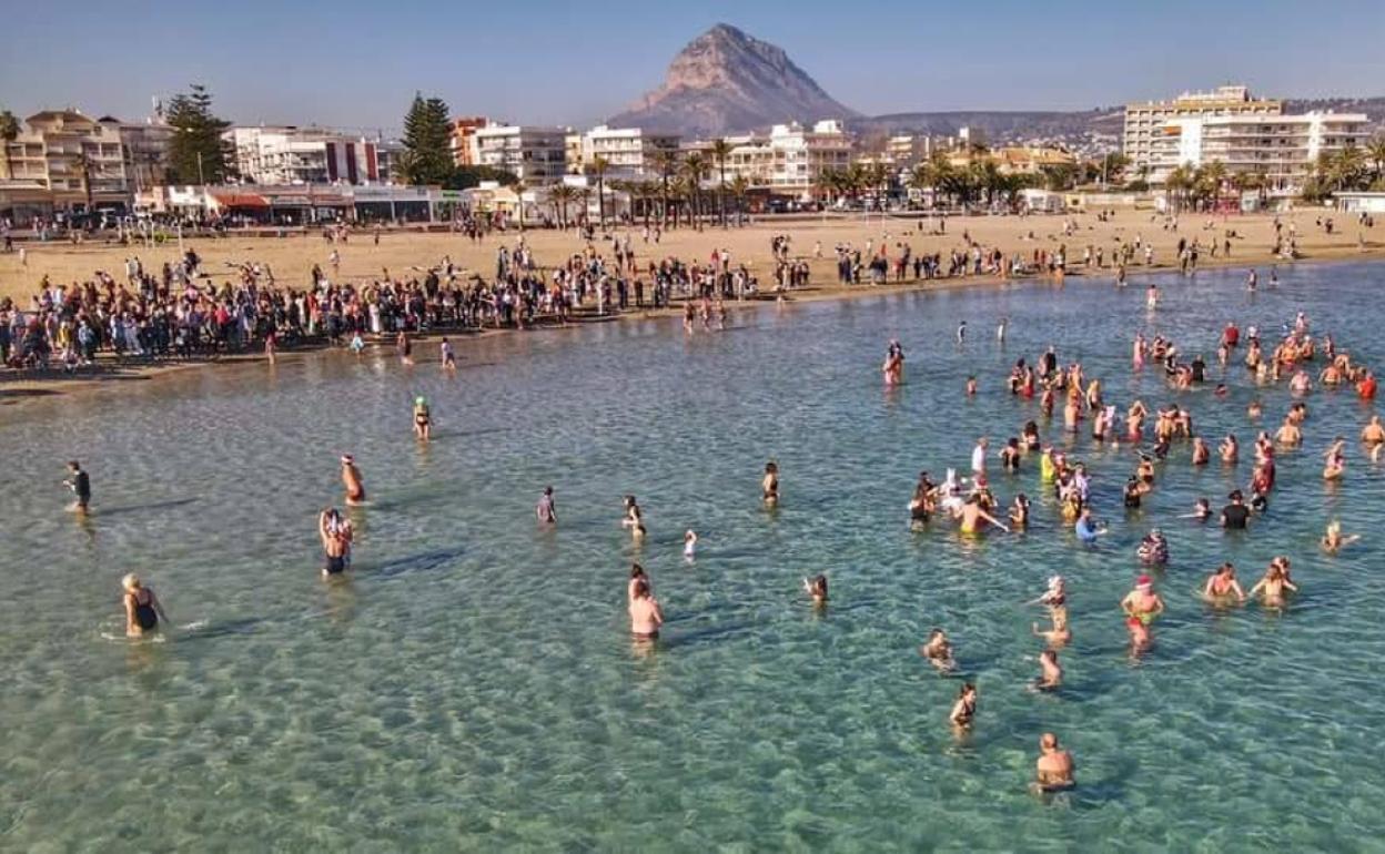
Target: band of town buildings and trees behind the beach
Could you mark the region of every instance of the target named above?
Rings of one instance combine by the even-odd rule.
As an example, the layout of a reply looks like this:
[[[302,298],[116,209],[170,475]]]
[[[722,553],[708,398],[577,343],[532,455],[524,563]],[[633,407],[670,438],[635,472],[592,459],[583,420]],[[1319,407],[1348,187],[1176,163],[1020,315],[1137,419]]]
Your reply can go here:
[[[190,122],[197,97],[202,112]],[[1367,115],[1292,115],[1283,100],[1246,86],[1129,104],[1119,138],[1086,147],[990,140],[971,127],[946,136],[853,131],[834,116],[686,138],[447,113],[445,138],[434,133],[422,141],[407,130],[385,138],[313,126],[230,126],[215,119],[199,87],[180,104],[181,118],[155,101],[143,120],[91,118],[73,107],[22,119],[4,113],[0,219],[15,228],[140,217],[302,226],[438,221],[467,210],[540,226],[636,220],[651,210],[666,219],[670,205],[695,212],[704,195],[730,198],[737,212],[755,215],[958,206],[1057,212],[1080,203],[1082,194],[1223,210],[1335,198],[1366,209],[1385,197],[1378,192],[1385,190],[1385,143],[1373,136]],[[436,112],[440,101],[428,104]],[[194,136],[206,137],[201,148],[184,138]],[[436,159],[439,147],[446,163],[418,167],[429,155]]]

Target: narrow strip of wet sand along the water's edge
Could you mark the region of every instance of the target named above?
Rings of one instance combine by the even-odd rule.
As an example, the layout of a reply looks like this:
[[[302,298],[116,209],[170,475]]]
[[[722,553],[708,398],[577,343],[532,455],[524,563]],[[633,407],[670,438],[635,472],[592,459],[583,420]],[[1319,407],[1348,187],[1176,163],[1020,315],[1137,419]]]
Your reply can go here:
[[[1352,260],[1363,262],[1382,262],[1385,260],[1385,245],[1368,244],[1364,249],[1355,249],[1348,252],[1331,252],[1327,255],[1313,255],[1298,257],[1294,260],[1276,259],[1267,253],[1258,253],[1251,256],[1241,256],[1235,259],[1210,259],[1205,262],[1199,259],[1198,270],[1223,270],[1228,267],[1262,267],[1262,266],[1299,266],[1299,264],[1323,264],[1323,263],[1348,263]],[[1068,273],[1064,277],[1064,284],[1068,280],[1078,281],[1097,281],[1097,280],[1114,280],[1114,267],[1097,267],[1094,271],[1087,271],[1086,267],[1075,267],[1076,271]],[[1154,275],[1161,273],[1176,273],[1177,266],[1173,264],[1155,264],[1152,267],[1145,267],[1143,264],[1132,266],[1126,269],[1126,275],[1129,278],[1137,278],[1143,275]],[[814,303],[814,302],[828,302],[838,299],[861,299],[867,296],[891,296],[896,293],[920,293],[920,292],[946,292],[946,291],[964,291],[972,288],[986,288],[986,287],[1006,287],[1006,285],[1037,285],[1037,284],[1057,284],[1057,277],[1048,274],[1035,274],[1035,275],[963,275],[963,277],[946,277],[946,278],[924,278],[924,280],[910,280],[903,282],[886,281],[881,285],[863,282],[860,285],[841,285],[837,282],[831,284],[809,284],[806,288],[788,292],[788,303]],[[762,292],[760,295],[747,299],[747,300],[731,300],[727,302],[727,307],[734,310],[759,310],[765,306],[780,305],[778,299],[773,298],[773,291],[767,292],[769,296]],[[429,343],[436,342],[445,335],[457,336],[458,353],[468,343],[490,338],[494,335],[518,335],[518,334],[537,334],[554,329],[572,329],[580,328],[587,324],[598,322],[627,322],[627,321],[648,321],[648,320],[663,320],[663,318],[679,318],[683,316],[684,299],[679,299],[676,305],[665,309],[636,309],[626,310],[620,314],[611,314],[605,317],[590,317],[584,320],[578,320],[575,322],[566,324],[543,324],[539,327],[532,327],[528,329],[519,328],[465,328],[465,329],[429,329],[422,334],[413,334],[411,340],[414,343]],[[368,350],[378,350],[382,347],[391,347],[392,342],[388,335],[371,336],[367,340],[366,347]],[[309,356],[321,356],[325,353],[332,353],[335,350],[346,352],[345,347],[332,346],[325,342],[325,339],[314,340],[302,347],[295,347],[292,350],[280,350],[277,358],[280,360],[295,360]],[[22,406],[24,403],[35,400],[46,400],[57,396],[65,394],[82,394],[96,389],[107,388],[112,382],[152,382],[163,376],[169,376],[176,372],[190,371],[195,368],[213,370],[219,365],[234,364],[253,364],[266,363],[267,357],[260,350],[247,350],[242,353],[229,354],[223,357],[213,358],[194,358],[187,361],[161,361],[161,363],[145,363],[145,364],[119,364],[114,356],[102,354],[98,358],[94,368],[83,368],[75,374],[64,374],[61,368],[50,368],[47,374],[42,376],[32,376],[12,368],[0,368],[0,407],[14,407]]]

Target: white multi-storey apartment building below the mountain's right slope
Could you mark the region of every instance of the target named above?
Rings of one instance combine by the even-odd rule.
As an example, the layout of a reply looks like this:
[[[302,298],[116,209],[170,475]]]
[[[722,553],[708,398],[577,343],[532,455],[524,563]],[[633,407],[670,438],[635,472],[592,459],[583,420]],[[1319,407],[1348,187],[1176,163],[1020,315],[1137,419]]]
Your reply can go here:
[[[838,120],[805,129],[798,122],[776,125],[769,136],[729,137],[727,179],[744,176],[752,187],[807,201],[819,194],[824,170],[846,169],[855,140]]]

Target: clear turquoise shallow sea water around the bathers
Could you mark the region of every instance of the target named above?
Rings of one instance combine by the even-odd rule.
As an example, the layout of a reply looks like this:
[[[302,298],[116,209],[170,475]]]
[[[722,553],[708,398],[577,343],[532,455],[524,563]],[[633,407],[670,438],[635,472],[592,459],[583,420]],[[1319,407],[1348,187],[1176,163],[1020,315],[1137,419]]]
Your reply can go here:
[[[316,356],[112,385],[0,410],[0,847],[8,850],[1242,850],[1379,846],[1385,652],[1381,471],[1352,446],[1324,487],[1319,453],[1371,412],[1314,393],[1306,447],[1280,462],[1271,514],[1248,536],[1174,516],[1249,478],[1194,471],[1187,448],[1127,518],[1133,453],[1078,455],[1114,534],[1078,549],[1051,501],[1024,536],[910,532],[917,472],[965,468],[975,437],[1018,433],[1032,404],[1008,365],[1050,342],[1126,404],[1186,400],[1204,435],[1266,425],[1283,388],[1233,370],[1227,400],[1176,394],[1129,370],[1137,328],[1215,363],[1222,322],[1317,329],[1385,364],[1385,267],[1242,271],[1137,282],[891,295],[740,311],[726,334],[650,321],[494,338],[432,364]],[[1267,275],[1262,271],[1262,281]],[[1011,318],[1004,349],[994,321]],[[967,318],[974,339],[951,338]],[[886,394],[888,338],[909,352]],[[431,356],[431,347],[424,347]],[[967,374],[982,394],[963,396]],[[1213,368],[1216,372],[1216,368]],[[432,399],[436,439],[410,436]],[[1058,437],[1057,425],[1044,425]],[[360,461],[356,567],[317,574],[314,514]],[[87,462],[97,512],[62,512],[62,461]],[[780,462],[767,514],[759,472]],[[561,526],[532,507],[557,487]],[[1037,466],[999,478],[1042,493]],[[650,537],[618,525],[636,493]],[[1316,547],[1339,516],[1367,540]],[[1138,537],[1161,525],[1169,615],[1133,663],[1116,602]],[[684,563],[681,534],[702,536]],[[1215,613],[1194,597],[1223,559],[1253,581],[1276,554],[1303,588],[1284,615]],[[626,635],[641,561],[669,615],[644,655]],[[173,621],[120,637],[118,579],[138,570]],[[834,601],[805,606],[824,570]],[[1022,602],[1069,576],[1066,685],[1036,674]],[[958,680],[915,652],[946,627],[981,689],[975,732],[946,714]],[[1026,792],[1054,729],[1082,788]]]

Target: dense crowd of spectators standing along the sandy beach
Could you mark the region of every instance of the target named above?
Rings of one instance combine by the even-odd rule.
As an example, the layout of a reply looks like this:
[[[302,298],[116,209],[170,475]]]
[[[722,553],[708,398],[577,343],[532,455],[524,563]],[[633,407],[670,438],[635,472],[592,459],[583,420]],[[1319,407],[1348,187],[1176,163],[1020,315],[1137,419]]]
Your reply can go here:
[[[1177,217],[1165,217],[1163,228],[1177,231]],[[1276,242],[1287,242],[1294,251],[1295,224],[1288,223],[1288,235],[1281,238],[1284,230],[1276,219]],[[943,233],[946,226],[942,233],[935,231]],[[720,306],[711,303],[760,296],[784,299],[810,284],[812,262],[824,260],[821,242],[812,252],[798,252],[791,235],[774,234],[762,282],[748,262],[733,259],[722,248],[705,259],[659,257],[659,234],[645,228],[638,246],[629,231],[597,235],[589,230],[579,235],[578,251],[544,266],[524,231],[514,235],[499,231],[494,270],[485,271],[486,275],[463,269],[445,255],[427,267],[395,271],[382,267],[378,275],[349,280],[341,273],[341,253],[352,251],[349,234],[343,226],[324,228],[324,246],[330,246],[325,267],[313,264],[302,281],[285,282],[270,264],[258,260],[226,262],[226,269],[212,270],[195,249],[186,249],[158,269],[145,266],[133,253],[125,259],[123,270],[96,270],[80,282],[55,282],[44,275],[28,305],[0,300],[0,365],[72,372],[91,367],[100,354],[122,363],[215,358],[259,350],[273,357],[280,347],[307,343],[355,345],[360,352],[367,339],[385,343],[400,332],[525,329],[566,324],[579,313],[605,318],[669,309],[674,300],[708,303],[701,309],[704,314],[720,314]],[[900,234],[886,231],[878,241],[863,245],[838,244],[834,248],[838,284],[1032,274],[1061,281],[1073,269],[1066,239],[1079,237],[1076,220],[1065,219],[1061,233],[1047,235],[1057,245],[1021,252],[983,245],[963,230],[956,248],[929,253],[914,252],[910,238],[915,234],[924,234],[921,223]],[[377,228],[375,244],[379,235]],[[1222,237],[1228,256],[1238,235],[1226,230]],[[1024,239],[1040,242],[1033,231]],[[1198,235],[1181,237],[1179,269],[1195,271],[1205,251]],[[1215,237],[1210,252],[1216,256]],[[1112,269],[1116,280],[1125,282],[1127,267],[1137,262],[1145,267],[1155,264],[1154,248],[1138,233],[1125,239],[1118,235],[1109,256],[1102,246],[1089,242],[1080,267]]]

